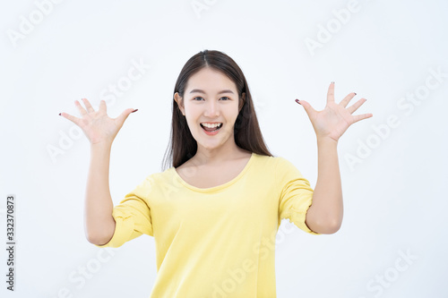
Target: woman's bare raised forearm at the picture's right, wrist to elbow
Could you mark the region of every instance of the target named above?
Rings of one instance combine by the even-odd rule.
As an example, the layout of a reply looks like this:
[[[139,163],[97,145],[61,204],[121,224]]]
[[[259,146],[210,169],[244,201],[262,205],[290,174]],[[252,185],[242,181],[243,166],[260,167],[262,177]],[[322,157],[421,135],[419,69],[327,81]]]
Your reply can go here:
[[[342,223],[343,204],[338,161],[338,142],[317,139],[317,182],[306,224],[316,233],[335,233]]]

